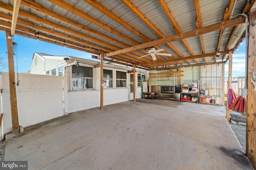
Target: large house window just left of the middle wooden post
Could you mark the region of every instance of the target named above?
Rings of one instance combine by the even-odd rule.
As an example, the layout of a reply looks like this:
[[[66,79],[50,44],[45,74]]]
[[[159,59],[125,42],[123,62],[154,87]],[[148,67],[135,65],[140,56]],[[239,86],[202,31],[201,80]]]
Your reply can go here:
[[[93,68],[72,66],[72,89],[93,88]]]

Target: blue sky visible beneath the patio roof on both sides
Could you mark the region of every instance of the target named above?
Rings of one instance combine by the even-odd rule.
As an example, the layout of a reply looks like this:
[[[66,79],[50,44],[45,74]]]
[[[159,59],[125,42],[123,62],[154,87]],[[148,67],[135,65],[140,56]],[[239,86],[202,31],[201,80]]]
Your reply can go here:
[[[34,53],[44,53],[49,55],[66,55],[79,57],[83,59],[91,59],[90,53],[78,51],[64,46],[54,45],[43,41],[37,41],[36,39],[30,39],[19,35],[14,35],[14,42],[17,45],[17,53],[14,55],[15,72],[17,72],[17,60],[18,60],[18,72],[27,72],[30,69],[32,63],[32,57]],[[4,63],[8,65],[6,54],[6,39],[5,32],[0,31],[0,57],[4,58]],[[8,67],[0,68],[0,71],[8,72]],[[238,51],[233,54],[232,64],[232,77],[245,75],[245,41],[238,47]],[[225,64],[225,77],[228,76],[228,63]]]

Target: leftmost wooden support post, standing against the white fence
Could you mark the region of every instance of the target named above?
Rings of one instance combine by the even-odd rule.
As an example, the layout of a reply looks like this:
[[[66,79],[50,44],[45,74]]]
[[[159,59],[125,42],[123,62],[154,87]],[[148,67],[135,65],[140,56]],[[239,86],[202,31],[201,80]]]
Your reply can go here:
[[[9,67],[9,88],[10,88],[10,104],[12,114],[12,133],[20,133],[19,119],[18,119],[18,108],[16,98],[16,83],[15,83],[15,72],[14,72],[14,59],[12,49],[12,39],[8,39],[9,31],[5,31],[7,54],[8,54],[8,67]]]

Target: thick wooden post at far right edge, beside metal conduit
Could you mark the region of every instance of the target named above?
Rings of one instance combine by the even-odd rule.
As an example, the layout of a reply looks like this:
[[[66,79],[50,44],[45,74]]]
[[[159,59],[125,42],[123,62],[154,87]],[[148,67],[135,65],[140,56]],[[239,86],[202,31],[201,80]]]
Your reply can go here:
[[[252,166],[256,169],[256,84],[252,83],[252,72],[256,72],[256,8],[250,10],[249,14],[249,41],[248,41],[248,96],[246,108],[246,154]],[[247,57],[247,56],[246,56]],[[245,80],[246,81],[246,80]]]

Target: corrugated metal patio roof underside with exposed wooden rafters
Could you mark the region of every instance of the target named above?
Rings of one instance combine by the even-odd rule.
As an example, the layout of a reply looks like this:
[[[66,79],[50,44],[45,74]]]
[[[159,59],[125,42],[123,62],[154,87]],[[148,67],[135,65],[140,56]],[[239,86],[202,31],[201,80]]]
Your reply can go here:
[[[198,14],[196,13],[196,4],[192,0],[86,1],[87,0],[21,0],[21,10],[24,10],[24,12],[29,12],[30,14],[35,14],[38,19],[40,18],[50,21],[60,25],[61,27],[55,27],[51,24],[49,25],[41,20],[37,21],[32,18],[27,18],[19,13],[20,16],[18,18],[24,21],[18,21],[17,25],[27,27],[30,29],[30,31],[27,32],[25,29],[17,29],[16,33],[22,34],[22,32],[26,32],[28,35],[31,35],[30,37],[32,38],[36,38],[36,36],[32,36],[34,33],[39,33],[40,37],[50,39],[51,41],[54,41],[53,43],[55,44],[62,45],[65,41],[67,46],[70,48],[78,50],[86,49],[86,52],[99,55],[100,52],[110,53],[112,51],[126,49],[127,47],[132,47],[134,45],[144,44],[146,42],[161,39],[162,37],[158,36],[158,34],[150,28],[148,25],[149,22],[152,23],[160,31],[160,33],[164,35],[164,37],[177,35],[175,29],[177,31],[181,30],[181,33],[196,30],[196,20],[202,21],[202,27],[220,23],[223,21],[226,7],[230,5],[229,0],[199,0],[198,8],[200,9],[201,18],[197,18]],[[10,7],[14,5],[12,0],[0,0],[0,2],[7,4]],[[61,6],[61,2],[66,4]],[[137,8],[142,13],[142,17],[145,16],[149,21],[145,23],[137,16],[140,14],[136,15],[123,2],[128,2],[128,4],[133,5],[133,8]],[[168,14],[166,14],[160,5],[161,2],[167,6],[168,12],[170,12],[177,25],[169,20]],[[255,0],[250,0],[250,2],[254,3],[252,8],[255,8]],[[92,6],[93,4],[89,3],[96,3],[96,6]],[[234,15],[242,12],[243,7],[247,5],[245,3],[246,2],[244,0],[236,0],[236,4],[234,4]],[[40,6],[42,6],[42,8]],[[106,8],[106,10],[101,11],[100,9],[102,8]],[[232,9],[228,10],[231,11]],[[81,15],[77,15],[77,12]],[[0,23],[0,27],[2,28],[1,30],[3,30],[3,28],[10,27],[8,26],[8,23],[5,22],[6,18],[4,18],[4,14],[11,15],[11,13],[8,12],[5,7],[1,7],[0,21],[4,21]],[[58,18],[57,14],[61,15],[63,18]],[[35,25],[40,25],[42,29],[24,24],[26,22],[32,22]],[[63,30],[63,27],[74,30],[77,33]],[[88,30],[87,28],[91,29],[92,31]],[[141,65],[140,63],[143,63],[143,66],[147,67],[148,69],[156,69],[159,66],[161,68],[163,66],[168,68],[170,66],[175,67],[196,64],[210,64],[207,62],[211,61],[226,62],[228,55],[221,55],[218,58],[214,55],[210,55],[196,59],[184,59],[186,59],[186,57],[204,55],[202,53],[202,46],[204,47],[204,53],[216,53],[218,51],[225,51],[227,49],[235,48],[238,45],[239,40],[244,39],[243,34],[245,24],[239,25],[234,35],[231,35],[233,29],[234,27],[227,27],[223,29],[222,37],[220,37],[220,30],[204,33],[202,34],[203,44],[200,42],[199,35],[191,36],[183,40],[172,41],[169,44],[160,43],[158,47],[165,49],[161,53],[171,53],[172,57],[162,55],[156,56],[158,61],[154,63],[152,63],[152,58],[150,56],[137,59],[146,53],[138,53],[136,51],[131,51],[130,53],[124,54],[118,53],[115,56],[109,56],[109,60],[106,60],[112,61],[112,59],[117,59],[118,61],[112,62],[121,62],[121,64],[124,62],[128,63],[128,65]],[[56,35],[56,32],[53,32],[52,30],[62,33],[63,36]],[[217,49],[220,38],[220,47]],[[230,39],[231,41],[229,41]],[[226,47],[227,45],[228,47]],[[146,49],[141,48],[139,51],[146,51],[151,47],[152,46],[150,46],[149,43]],[[157,46],[154,47],[158,49]],[[45,53],[47,53],[47,51]],[[172,58],[179,58],[180,61],[168,60]]]

